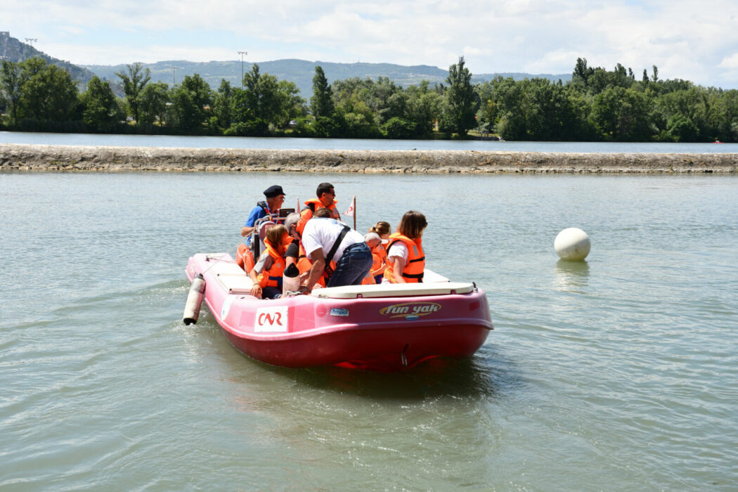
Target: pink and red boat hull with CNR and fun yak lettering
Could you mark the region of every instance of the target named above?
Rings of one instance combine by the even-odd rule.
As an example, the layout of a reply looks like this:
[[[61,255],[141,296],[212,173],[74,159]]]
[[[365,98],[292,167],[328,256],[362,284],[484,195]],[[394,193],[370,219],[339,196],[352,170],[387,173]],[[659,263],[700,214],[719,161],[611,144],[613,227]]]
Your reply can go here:
[[[470,356],[492,330],[487,297],[472,283],[425,271],[424,283],[347,285],[256,299],[230,254],[195,254],[190,282],[241,352],[285,367],[337,365],[396,371],[435,357]],[[199,280],[201,282],[201,280]]]

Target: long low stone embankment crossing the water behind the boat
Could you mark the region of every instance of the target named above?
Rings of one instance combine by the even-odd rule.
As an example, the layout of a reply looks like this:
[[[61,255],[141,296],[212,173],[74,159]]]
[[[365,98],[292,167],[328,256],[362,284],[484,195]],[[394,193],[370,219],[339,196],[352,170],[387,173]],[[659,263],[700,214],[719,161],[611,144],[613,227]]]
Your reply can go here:
[[[0,144],[0,171],[737,173],[738,154],[269,150]]]

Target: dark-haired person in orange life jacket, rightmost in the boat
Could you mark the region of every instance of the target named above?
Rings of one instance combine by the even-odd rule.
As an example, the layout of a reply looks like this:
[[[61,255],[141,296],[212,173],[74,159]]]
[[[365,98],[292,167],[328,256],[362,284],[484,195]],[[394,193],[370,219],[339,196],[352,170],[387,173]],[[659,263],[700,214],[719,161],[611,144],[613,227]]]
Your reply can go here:
[[[425,215],[410,210],[402,216],[397,232],[390,234],[387,267],[382,283],[419,283],[423,281],[425,253],[423,231],[428,226]]]

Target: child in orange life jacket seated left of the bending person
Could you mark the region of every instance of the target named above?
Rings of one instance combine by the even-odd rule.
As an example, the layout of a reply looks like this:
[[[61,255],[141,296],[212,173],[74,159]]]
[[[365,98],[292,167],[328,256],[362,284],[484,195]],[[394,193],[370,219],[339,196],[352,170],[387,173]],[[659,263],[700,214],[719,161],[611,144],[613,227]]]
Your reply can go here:
[[[266,229],[265,251],[249,273],[254,285],[251,295],[259,299],[277,299],[282,295],[282,275],[286,267],[285,249],[292,243],[285,226]]]

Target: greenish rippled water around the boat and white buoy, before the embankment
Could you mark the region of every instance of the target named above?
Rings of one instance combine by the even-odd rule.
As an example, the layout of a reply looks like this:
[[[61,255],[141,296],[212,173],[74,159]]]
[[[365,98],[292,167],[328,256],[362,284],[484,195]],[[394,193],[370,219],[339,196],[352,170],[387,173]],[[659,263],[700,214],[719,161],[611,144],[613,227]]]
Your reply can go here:
[[[242,356],[180,321],[195,252],[320,181],[359,229],[429,218],[472,358],[383,375]],[[0,489],[735,490],[738,178],[0,174]],[[590,235],[586,263],[556,234]]]

